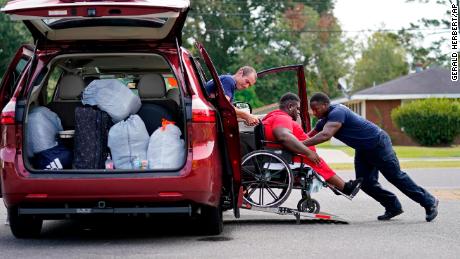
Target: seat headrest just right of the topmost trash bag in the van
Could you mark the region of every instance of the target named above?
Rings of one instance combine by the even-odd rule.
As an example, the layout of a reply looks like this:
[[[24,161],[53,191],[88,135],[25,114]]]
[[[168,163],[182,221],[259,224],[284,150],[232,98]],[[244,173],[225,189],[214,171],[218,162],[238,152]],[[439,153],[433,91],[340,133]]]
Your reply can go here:
[[[159,74],[143,75],[137,84],[137,89],[141,99],[164,98],[166,95],[166,84]]]

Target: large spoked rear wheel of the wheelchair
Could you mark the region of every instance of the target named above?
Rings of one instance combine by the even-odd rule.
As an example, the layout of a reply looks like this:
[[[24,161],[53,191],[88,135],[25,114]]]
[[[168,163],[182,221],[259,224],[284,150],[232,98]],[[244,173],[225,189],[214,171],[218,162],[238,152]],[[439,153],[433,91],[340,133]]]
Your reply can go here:
[[[241,162],[243,199],[255,207],[278,207],[292,191],[293,175],[289,165],[275,153],[254,151]]]

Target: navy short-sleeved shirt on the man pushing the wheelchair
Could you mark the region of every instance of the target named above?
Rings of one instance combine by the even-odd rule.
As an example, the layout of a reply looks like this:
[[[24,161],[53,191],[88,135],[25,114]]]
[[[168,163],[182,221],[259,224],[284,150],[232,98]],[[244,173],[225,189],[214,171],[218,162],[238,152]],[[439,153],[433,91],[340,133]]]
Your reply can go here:
[[[377,125],[341,104],[329,106],[329,113],[325,118],[318,121],[315,131],[322,131],[327,122],[342,123],[342,127],[335,133],[334,137],[354,149],[376,147],[382,132],[382,129]]]

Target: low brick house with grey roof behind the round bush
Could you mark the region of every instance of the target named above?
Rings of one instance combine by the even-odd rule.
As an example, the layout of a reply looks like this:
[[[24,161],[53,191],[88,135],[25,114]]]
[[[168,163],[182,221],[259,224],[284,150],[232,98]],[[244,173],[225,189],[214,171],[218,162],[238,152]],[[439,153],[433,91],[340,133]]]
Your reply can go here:
[[[417,145],[391,120],[391,111],[405,103],[426,98],[460,99],[460,82],[450,80],[450,71],[431,68],[334,99],[387,131],[395,145]],[[460,144],[460,137],[456,139]]]

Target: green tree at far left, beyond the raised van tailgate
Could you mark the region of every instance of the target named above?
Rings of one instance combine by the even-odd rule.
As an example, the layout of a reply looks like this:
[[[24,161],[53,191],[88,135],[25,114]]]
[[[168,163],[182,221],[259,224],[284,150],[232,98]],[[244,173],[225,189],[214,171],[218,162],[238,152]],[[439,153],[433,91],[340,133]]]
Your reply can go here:
[[[0,6],[6,2],[0,0]],[[19,46],[31,42],[30,33],[22,22],[11,21],[6,14],[0,13],[0,79]]]

